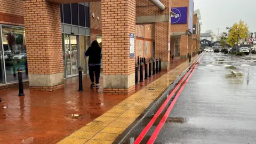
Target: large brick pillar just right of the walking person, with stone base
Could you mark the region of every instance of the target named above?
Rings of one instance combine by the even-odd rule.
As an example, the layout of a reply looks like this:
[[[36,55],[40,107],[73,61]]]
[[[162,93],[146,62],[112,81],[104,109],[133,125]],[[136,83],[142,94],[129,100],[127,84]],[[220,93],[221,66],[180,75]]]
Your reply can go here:
[[[101,0],[101,17],[104,93],[129,94],[135,90],[135,0]]]

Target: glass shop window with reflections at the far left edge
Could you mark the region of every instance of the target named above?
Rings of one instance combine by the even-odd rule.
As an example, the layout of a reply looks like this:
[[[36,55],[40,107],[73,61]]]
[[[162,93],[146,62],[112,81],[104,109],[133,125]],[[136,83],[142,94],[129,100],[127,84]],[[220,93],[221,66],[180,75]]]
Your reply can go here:
[[[23,79],[28,79],[25,29],[2,26],[6,81],[18,81],[18,68],[22,68]]]

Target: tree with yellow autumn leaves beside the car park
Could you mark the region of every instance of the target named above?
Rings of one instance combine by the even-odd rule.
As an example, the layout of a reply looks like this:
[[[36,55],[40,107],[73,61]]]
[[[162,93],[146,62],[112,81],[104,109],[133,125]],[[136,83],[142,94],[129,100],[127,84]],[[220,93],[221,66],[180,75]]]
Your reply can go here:
[[[235,44],[241,43],[248,38],[249,28],[240,20],[239,23],[235,23],[232,27],[227,27],[228,29],[228,39],[227,42],[229,45],[234,46]]]

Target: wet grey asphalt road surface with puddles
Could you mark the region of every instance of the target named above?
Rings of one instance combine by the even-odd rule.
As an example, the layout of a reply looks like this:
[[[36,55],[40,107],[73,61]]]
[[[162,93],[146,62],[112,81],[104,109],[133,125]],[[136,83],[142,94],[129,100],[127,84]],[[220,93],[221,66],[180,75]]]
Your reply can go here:
[[[133,131],[135,138],[149,119]],[[205,53],[155,143],[256,143],[256,62]]]

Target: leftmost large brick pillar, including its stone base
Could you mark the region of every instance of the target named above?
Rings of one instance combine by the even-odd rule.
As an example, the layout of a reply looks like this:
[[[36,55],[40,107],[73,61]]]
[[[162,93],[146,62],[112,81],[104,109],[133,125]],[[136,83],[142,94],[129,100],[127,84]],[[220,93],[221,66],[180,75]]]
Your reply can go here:
[[[30,89],[63,86],[60,5],[46,0],[23,2]]]

